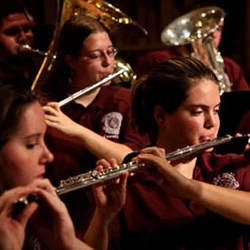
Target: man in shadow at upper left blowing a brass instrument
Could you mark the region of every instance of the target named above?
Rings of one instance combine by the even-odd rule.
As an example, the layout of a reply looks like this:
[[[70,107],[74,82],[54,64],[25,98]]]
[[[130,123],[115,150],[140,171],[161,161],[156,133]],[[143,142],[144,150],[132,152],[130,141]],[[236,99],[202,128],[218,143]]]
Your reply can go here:
[[[35,22],[20,0],[0,2],[0,77],[18,73],[30,82],[37,67],[22,45],[33,46]]]

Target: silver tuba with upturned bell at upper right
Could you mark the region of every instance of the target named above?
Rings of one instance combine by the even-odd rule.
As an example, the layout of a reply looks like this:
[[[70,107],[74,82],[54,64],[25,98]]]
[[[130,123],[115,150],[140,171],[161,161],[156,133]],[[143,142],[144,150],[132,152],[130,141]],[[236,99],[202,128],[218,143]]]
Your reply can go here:
[[[204,7],[175,19],[161,33],[163,44],[181,55],[191,55],[215,73],[220,93],[231,91],[231,83],[224,71],[224,60],[218,51],[212,33],[223,24],[225,12],[219,7]]]

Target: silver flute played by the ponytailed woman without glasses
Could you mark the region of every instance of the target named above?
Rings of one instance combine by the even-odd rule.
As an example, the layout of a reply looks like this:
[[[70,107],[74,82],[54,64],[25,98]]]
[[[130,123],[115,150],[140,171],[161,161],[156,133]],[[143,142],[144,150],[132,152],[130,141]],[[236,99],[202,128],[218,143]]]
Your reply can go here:
[[[226,135],[223,137],[211,139],[198,145],[187,146],[185,148],[178,149],[176,151],[166,154],[166,159],[171,162],[186,158],[191,155],[197,155],[208,148],[228,143],[233,138],[235,137]],[[69,177],[65,180],[61,180],[59,186],[56,188],[56,192],[58,195],[69,193],[77,189],[85,188],[94,184],[102,183],[104,181],[117,178],[123,172],[137,171],[142,167],[145,167],[145,164],[143,162],[131,161],[129,163],[124,163],[119,166],[103,169],[101,171],[89,171],[87,173],[83,173],[80,175]]]

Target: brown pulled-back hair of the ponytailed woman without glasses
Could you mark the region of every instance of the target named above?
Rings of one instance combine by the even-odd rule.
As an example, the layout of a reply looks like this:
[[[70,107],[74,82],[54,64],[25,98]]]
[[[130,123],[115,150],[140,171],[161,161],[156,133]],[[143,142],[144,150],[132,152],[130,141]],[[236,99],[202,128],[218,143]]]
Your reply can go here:
[[[159,63],[147,76],[132,85],[132,121],[142,134],[149,134],[154,143],[157,124],[154,108],[161,106],[173,113],[183,103],[194,84],[202,79],[219,83],[213,71],[191,57],[176,57]]]

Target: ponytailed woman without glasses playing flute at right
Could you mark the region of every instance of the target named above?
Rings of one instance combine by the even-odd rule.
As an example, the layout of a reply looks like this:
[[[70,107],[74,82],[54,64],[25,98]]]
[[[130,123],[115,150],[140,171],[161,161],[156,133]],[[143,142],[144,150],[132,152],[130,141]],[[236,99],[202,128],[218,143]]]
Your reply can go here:
[[[134,158],[146,167],[129,179],[109,249],[248,249],[250,163],[244,155],[208,148],[168,159],[177,149],[215,139],[219,108],[217,77],[191,57],[161,62],[133,84],[133,121],[156,147]]]

